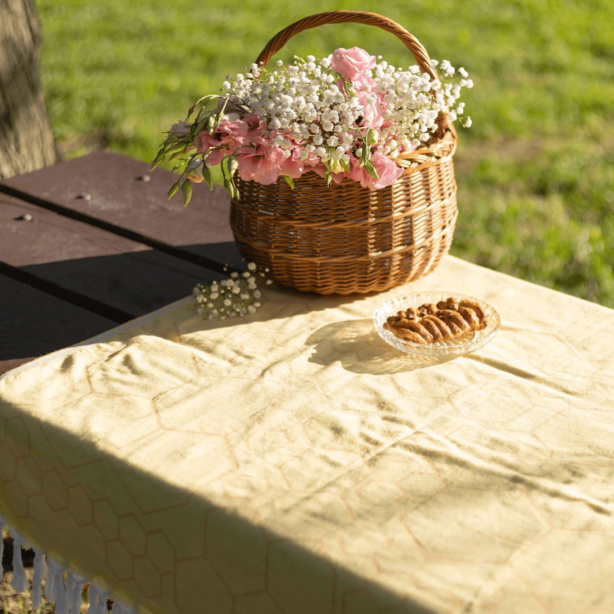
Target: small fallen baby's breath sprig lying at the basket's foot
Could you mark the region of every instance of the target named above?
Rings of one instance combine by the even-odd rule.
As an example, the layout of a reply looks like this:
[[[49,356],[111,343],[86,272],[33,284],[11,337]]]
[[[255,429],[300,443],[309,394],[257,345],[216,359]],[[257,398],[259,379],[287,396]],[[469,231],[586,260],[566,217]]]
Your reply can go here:
[[[230,273],[230,279],[214,281],[209,286],[196,284],[193,295],[198,304],[198,315],[203,316],[204,320],[225,320],[227,317],[256,313],[262,297],[258,281],[264,281],[266,286],[273,283],[266,278],[268,272],[268,268],[258,270],[256,264],[250,262],[247,271]]]

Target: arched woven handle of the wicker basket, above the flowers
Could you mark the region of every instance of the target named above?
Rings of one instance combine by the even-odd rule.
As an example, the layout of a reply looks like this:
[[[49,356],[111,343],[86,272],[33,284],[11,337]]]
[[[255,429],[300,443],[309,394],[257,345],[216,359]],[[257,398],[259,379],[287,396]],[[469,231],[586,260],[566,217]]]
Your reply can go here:
[[[382,17],[377,13],[364,13],[359,10],[330,10],[326,13],[318,13],[298,20],[287,28],[282,29],[273,36],[266,44],[262,53],[258,56],[256,63],[263,63],[263,66],[268,64],[268,61],[280,50],[286,43],[299,32],[316,28],[327,23],[364,23],[368,26],[377,26],[387,32],[394,34],[398,39],[403,41],[405,47],[409,49],[416,58],[418,66],[422,72],[427,72],[431,79],[439,80],[437,72],[430,65],[429,54],[422,47],[418,39],[410,34],[403,26],[398,25],[396,21],[392,21],[387,17]]]

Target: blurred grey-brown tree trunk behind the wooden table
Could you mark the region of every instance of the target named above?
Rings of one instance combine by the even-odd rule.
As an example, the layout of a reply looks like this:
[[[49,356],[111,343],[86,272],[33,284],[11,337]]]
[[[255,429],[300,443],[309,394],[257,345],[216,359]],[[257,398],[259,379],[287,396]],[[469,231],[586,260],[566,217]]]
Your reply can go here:
[[[0,178],[56,162],[40,49],[41,25],[32,0],[0,0]]]

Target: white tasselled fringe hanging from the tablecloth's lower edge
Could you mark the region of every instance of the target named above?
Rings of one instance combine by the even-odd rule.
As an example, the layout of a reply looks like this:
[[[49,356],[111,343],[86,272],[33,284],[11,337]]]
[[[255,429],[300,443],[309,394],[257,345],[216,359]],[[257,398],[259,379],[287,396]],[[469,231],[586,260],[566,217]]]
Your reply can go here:
[[[7,524],[4,518],[0,516],[0,532],[5,526]],[[10,526],[9,529],[13,536],[13,579],[10,585],[18,593],[25,593],[28,583],[26,582],[26,572],[23,569],[21,548],[26,544],[26,540]],[[4,544],[0,540],[0,561],[2,560],[3,551]],[[55,601],[55,614],[79,614],[83,586],[88,580],[71,570],[67,570],[64,565],[45,556],[43,552],[36,548],[34,548],[34,577],[31,594],[33,610],[42,605],[42,578],[45,575],[45,567],[47,567],[45,597],[50,602]],[[62,577],[64,572],[66,572],[66,588],[64,588],[64,578]],[[2,565],[0,565],[0,580],[2,580],[2,575]],[[91,583],[88,591],[90,605],[87,608],[87,614],[106,614],[107,599],[111,597],[112,594]],[[111,614],[138,614],[138,612],[134,608],[115,599]]]

